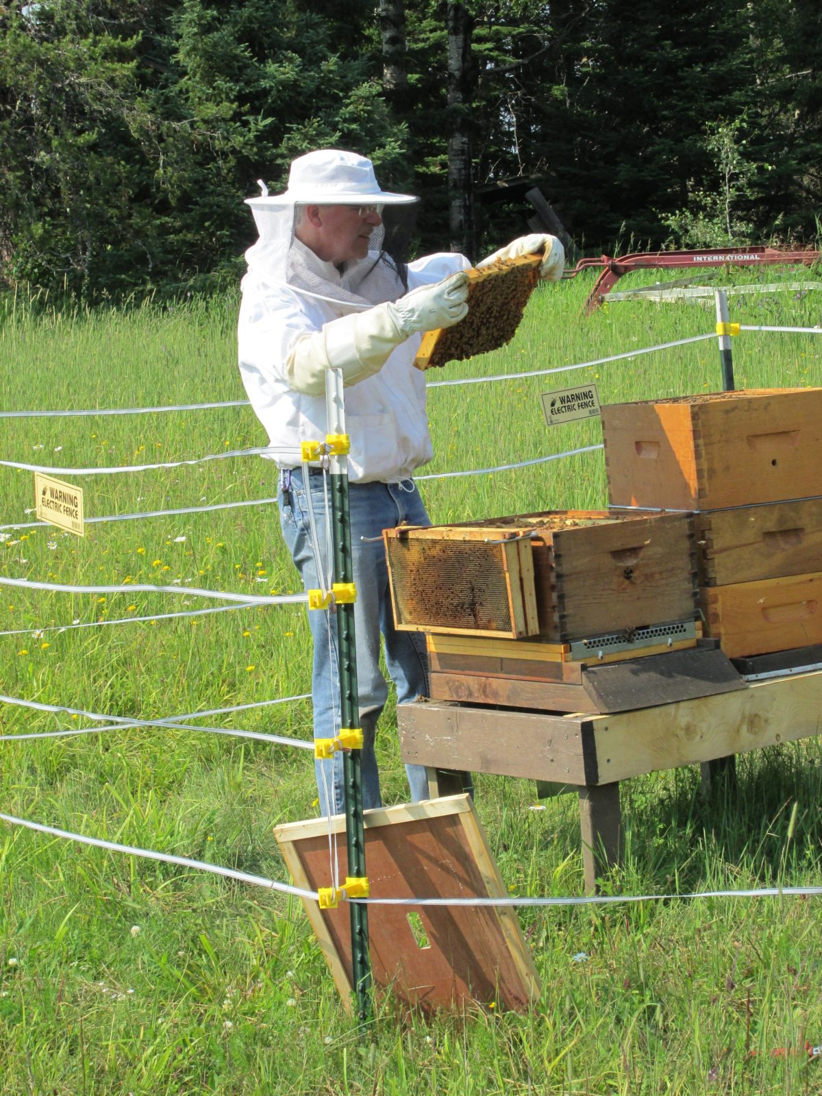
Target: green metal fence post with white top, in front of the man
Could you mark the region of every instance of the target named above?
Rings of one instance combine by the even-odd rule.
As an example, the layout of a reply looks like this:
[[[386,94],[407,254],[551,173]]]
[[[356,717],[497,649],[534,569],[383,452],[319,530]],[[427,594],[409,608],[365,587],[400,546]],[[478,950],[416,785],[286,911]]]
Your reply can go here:
[[[345,436],[343,379],[340,369],[329,369],[326,376],[326,409],[329,438]],[[353,583],[351,555],[351,515],[349,510],[349,460],[343,454],[330,458],[331,521],[334,548],[334,584]],[[354,635],[353,603],[336,604],[336,637],[340,670],[341,726],[359,727],[359,697]],[[358,750],[343,753],[345,781],[345,838],[349,853],[349,876],[365,878],[365,832],[363,830],[363,784]],[[350,903],[351,958],[357,1018],[361,1024],[370,1013],[370,958],[368,954],[368,911],[359,902]]]

